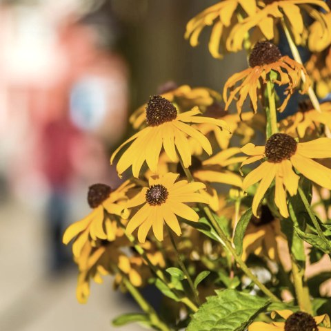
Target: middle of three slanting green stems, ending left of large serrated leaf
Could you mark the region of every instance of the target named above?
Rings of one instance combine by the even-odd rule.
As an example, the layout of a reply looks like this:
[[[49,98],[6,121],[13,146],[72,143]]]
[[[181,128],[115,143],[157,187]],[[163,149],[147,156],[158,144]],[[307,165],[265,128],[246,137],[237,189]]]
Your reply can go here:
[[[117,224],[119,225],[119,227],[121,227],[121,229],[123,229],[124,234],[126,235],[126,238],[128,238],[130,243],[132,243],[132,245],[134,246],[134,249],[136,249],[138,254],[143,258],[143,260],[146,261],[146,263],[148,264],[148,267],[150,267],[152,272],[154,272],[154,274],[160,279],[160,281],[162,281],[167,287],[169,287],[169,289],[179,298],[181,303],[183,303],[184,305],[187,305],[188,308],[190,308],[190,310],[192,310],[192,312],[197,312],[197,310],[198,310],[197,305],[192,303],[192,301],[187,296],[182,296],[182,294],[179,294],[177,292],[177,290],[174,289],[174,286],[172,285],[172,283],[170,281],[168,281],[168,279],[163,274],[162,270],[158,269],[155,265],[152,264],[152,262],[150,261],[150,258],[148,258],[148,255],[146,254],[143,247],[141,247],[141,245],[139,245],[136,238],[134,238],[134,236],[128,235],[128,233],[126,232],[126,227],[124,227],[124,225],[121,223],[121,220],[117,219]]]

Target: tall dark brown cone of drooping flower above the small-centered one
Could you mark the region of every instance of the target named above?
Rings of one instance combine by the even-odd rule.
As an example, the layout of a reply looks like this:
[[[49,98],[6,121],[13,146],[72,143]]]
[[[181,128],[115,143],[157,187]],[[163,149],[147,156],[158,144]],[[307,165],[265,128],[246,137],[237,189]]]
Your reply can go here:
[[[158,126],[176,117],[177,109],[169,100],[160,95],[150,97],[146,107],[146,122],[149,126]]]

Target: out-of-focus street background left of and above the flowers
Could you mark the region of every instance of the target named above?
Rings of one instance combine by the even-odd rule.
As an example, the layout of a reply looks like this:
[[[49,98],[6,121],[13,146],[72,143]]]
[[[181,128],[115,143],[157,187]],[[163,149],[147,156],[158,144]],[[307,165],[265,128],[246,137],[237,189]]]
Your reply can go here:
[[[210,56],[209,31],[196,49],[183,39],[215,2],[0,0],[1,331],[114,330],[138,310],[110,278],[79,305],[61,237],[89,212],[90,185],[119,182],[110,153],[135,108],[167,82],[221,92],[245,68]]]

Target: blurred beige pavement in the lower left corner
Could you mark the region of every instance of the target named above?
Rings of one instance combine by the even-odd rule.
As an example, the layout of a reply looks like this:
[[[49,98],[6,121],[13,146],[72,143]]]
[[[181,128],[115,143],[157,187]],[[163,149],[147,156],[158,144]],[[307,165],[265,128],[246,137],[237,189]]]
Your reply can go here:
[[[46,245],[41,216],[26,205],[0,206],[1,331],[140,331],[138,325],[114,328],[110,321],[137,308],[112,281],[93,284],[86,305],[75,297],[76,269],[46,276]]]

